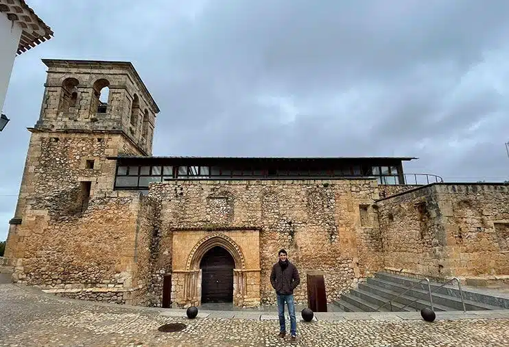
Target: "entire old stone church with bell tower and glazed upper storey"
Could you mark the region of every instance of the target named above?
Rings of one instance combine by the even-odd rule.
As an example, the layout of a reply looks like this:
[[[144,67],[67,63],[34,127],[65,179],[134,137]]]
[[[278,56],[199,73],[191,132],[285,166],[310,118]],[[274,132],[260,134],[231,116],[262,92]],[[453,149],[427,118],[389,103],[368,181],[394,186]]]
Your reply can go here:
[[[5,250],[16,282],[131,305],[273,305],[280,248],[299,303],[310,271],[329,302],[379,270],[509,277],[507,184],[412,181],[412,157],[154,157],[159,108],[132,64],[43,62]]]

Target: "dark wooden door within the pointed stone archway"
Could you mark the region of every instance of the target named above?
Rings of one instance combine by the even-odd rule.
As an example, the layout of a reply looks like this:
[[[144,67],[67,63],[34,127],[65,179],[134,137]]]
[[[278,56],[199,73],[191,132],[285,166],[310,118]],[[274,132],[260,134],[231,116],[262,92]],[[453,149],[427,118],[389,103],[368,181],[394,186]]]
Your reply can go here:
[[[233,302],[233,269],[235,261],[228,250],[216,246],[200,262],[202,269],[202,303]]]

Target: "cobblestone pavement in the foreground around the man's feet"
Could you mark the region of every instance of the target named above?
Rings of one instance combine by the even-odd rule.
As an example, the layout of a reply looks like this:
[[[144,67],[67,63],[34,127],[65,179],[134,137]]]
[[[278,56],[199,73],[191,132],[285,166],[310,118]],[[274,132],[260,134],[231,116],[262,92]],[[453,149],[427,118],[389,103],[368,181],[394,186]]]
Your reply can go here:
[[[0,346],[291,346],[288,337],[276,336],[275,316],[209,311],[187,320],[183,310],[88,303],[12,284],[0,285],[0,313]],[[318,320],[298,322],[296,345],[509,346],[507,310],[484,312],[485,317],[499,317],[495,319],[444,314],[434,323],[412,312],[339,315],[329,313],[331,320],[323,320],[327,315],[317,313]],[[170,322],[187,328],[178,333],[157,330]]]

